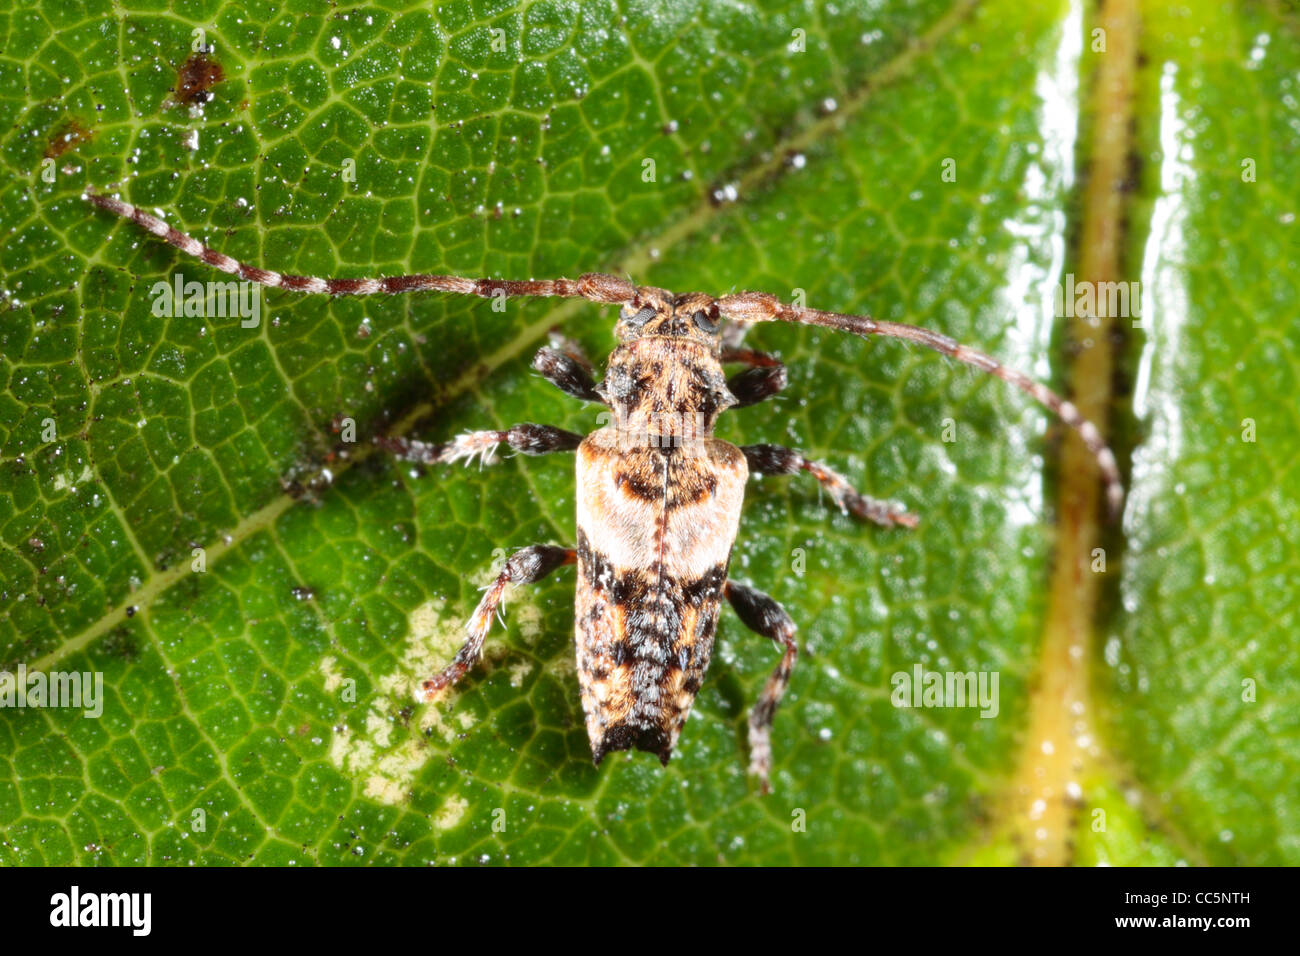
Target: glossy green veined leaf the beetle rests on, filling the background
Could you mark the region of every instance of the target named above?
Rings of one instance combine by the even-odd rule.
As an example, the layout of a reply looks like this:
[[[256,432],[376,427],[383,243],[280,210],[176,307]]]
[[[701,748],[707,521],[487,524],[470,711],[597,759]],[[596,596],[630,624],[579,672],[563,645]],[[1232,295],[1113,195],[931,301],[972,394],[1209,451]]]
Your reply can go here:
[[[1045,467],[1058,429],[1023,395],[896,342],[757,329],[790,385],[722,437],[801,447],[922,524],[754,481],[733,575],[802,650],[775,792],[746,779],[745,724],[777,654],[725,610],[670,766],[595,769],[571,571],[514,593],[455,695],[412,697],[504,553],[572,544],[572,459],[421,472],[369,440],[592,431],[529,359],[556,325],[608,352],[612,312],[268,290],[257,328],[159,317],[156,282],[225,277],[82,193],[282,272],[803,295],[1088,389],[1052,291],[1105,221],[1086,183],[1108,109],[1132,111],[1143,321],[1118,346],[1131,408],[1106,399],[1131,497],[1076,609],[1093,739],[1050,780],[1070,860],[1300,861],[1294,16],[1143,9],[1138,98],[1098,117],[1078,7],[879,7],[0,13],[0,665],[104,683],[99,718],[0,710],[0,861],[1036,858],[1026,754],[1046,718],[1074,727],[1041,693],[1072,666],[1052,562],[1091,544],[1058,501],[1091,477]],[[224,77],[191,109],[196,27]],[[997,672],[996,718],[894,706],[918,665]]]

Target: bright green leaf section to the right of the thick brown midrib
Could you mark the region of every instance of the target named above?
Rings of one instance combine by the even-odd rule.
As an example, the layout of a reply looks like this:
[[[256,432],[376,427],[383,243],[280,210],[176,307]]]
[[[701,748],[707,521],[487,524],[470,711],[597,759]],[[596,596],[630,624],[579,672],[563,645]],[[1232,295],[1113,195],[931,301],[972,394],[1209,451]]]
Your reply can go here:
[[[1197,862],[1300,862],[1295,12],[1154,10],[1134,494],[1098,696]],[[1158,92],[1157,92],[1158,91]],[[1248,108],[1243,104],[1269,104]]]

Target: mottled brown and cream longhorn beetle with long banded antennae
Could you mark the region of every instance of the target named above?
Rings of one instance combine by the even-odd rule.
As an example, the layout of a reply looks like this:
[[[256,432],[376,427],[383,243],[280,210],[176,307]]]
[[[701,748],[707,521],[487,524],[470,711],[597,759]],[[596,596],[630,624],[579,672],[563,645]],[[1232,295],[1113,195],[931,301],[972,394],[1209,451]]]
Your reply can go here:
[[[490,462],[502,444],[526,455],[577,453],[576,548],[533,545],[512,554],[469,619],[468,640],[447,667],[421,684],[434,700],[482,657],[484,637],[506,587],[532,584],[577,564],[577,670],[595,763],[612,750],[649,750],[668,762],[708,667],[718,611],[727,598],[740,619],[781,648],[749,718],[750,773],[768,790],[772,715],[790,679],[794,622],[767,594],[728,578],[745,483],[753,475],[815,477],[841,510],[887,527],[915,527],[902,506],[857,492],[828,466],[780,445],[736,447],[714,437],[727,408],[771,398],[786,384],[774,356],[744,349],[741,334],[766,321],[802,323],[854,334],[915,342],[989,372],[1037,399],[1079,433],[1096,457],[1110,514],[1123,502],[1115,457],[1096,427],[1065,399],[997,359],[937,332],[861,315],[788,306],[766,293],[675,295],[625,278],[588,273],[577,280],[493,280],[459,276],[313,278],[244,265],[127,203],[87,194],[187,255],[274,289],[322,295],[445,291],[462,295],[580,298],[619,306],[619,345],[597,384],[578,349],[556,338],[533,368],[564,393],[610,410],[610,424],[588,436],[550,425],[467,432],[430,445],[376,441],[403,460],[425,464]],[[722,325],[722,320],[733,325]],[[723,365],[745,365],[731,378]]]

